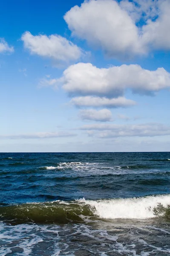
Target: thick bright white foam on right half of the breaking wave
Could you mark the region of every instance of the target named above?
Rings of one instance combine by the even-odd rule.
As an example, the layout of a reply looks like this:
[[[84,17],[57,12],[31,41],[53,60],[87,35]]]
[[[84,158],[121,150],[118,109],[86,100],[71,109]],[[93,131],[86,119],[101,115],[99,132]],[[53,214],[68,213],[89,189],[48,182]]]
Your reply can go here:
[[[170,204],[170,195],[147,196],[141,198],[118,198],[111,200],[91,201],[80,199],[80,203],[89,204],[95,208],[95,214],[100,218],[116,219],[147,219],[154,218],[153,208],[161,203],[164,207]]]

